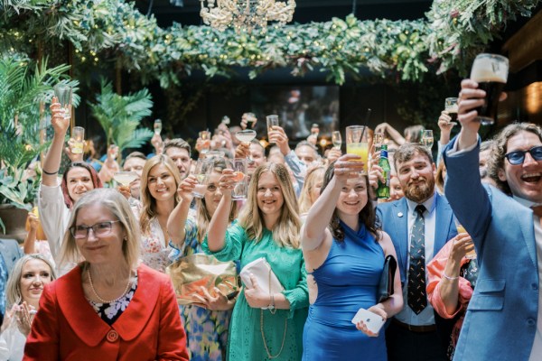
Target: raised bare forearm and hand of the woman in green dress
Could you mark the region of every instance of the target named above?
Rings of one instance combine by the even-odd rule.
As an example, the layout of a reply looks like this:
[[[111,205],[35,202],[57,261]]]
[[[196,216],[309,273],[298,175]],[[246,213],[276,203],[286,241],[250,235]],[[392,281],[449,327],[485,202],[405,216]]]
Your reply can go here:
[[[231,209],[231,190],[235,186],[233,170],[225,169],[219,180],[222,192],[219,206],[210,219],[207,243],[211,252],[219,252],[225,245],[226,229],[229,226],[229,211]]]

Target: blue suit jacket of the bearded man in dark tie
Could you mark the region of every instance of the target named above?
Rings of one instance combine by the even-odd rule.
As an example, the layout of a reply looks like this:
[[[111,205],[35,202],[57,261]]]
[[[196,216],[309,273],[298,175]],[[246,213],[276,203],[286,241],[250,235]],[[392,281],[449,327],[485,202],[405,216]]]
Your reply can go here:
[[[457,235],[453,223],[453,211],[448,201],[438,193],[435,194],[435,252]],[[401,273],[401,284],[405,285],[406,263],[408,261],[408,205],[406,199],[398,199],[390,203],[378,204],[378,218],[382,229],[391,237],[397,253],[397,264]]]

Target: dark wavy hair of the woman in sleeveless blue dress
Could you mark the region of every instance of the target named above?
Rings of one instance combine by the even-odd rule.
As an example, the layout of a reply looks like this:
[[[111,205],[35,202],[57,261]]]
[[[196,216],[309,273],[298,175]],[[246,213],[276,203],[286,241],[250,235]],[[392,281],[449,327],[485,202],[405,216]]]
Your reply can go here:
[[[322,194],[323,190],[328,186],[330,181],[332,181],[333,175],[335,171],[335,162],[332,162],[327,170],[325,171],[325,174],[323,175],[323,182],[322,182],[322,189],[320,190],[320,194]],[[367,181],[367,204],[363,209],[360,211],[360,223],[365,225],[370,233],[375,235],[375,240],[378,242],[380,240],[380,234],[378,233],[378,230],[381,229],[380,222],[378,221],[378,216],[375,208],[370,203],[370,197],[369,197],[369,177],[367,175],[364,175],[363,178]],[[344,229],[341,227],[341,223],[339,222],[339,216],[337,215],[337,209],[333,211],[332,219],[330,220],[329,229],[332,232],[332,236],[337,239],[337,241],[342,242],[344,240]]]

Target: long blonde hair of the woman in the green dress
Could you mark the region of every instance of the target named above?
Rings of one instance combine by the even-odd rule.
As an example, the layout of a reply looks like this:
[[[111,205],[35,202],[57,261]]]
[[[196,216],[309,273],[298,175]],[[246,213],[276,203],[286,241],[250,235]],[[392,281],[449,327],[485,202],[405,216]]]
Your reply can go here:
[[[271,172],[275,175],[276,180],[285,199],[280,211],[280,216],[275,227],[270,229],[273,232],[273,240],[277,245],[291,246],[299,248],[299,229],[301,228],[301,219],[295,199],[294,187],[290,174],[286,167],[282,164],[268,163],[260,165],[252,174],[250,184],[248,186],[248,197],[245,208],[241,211],[238,218],[239,225],[245,228],[245,232],[250,239],[259,242],[264,235],[264,218],[263,213],[257,206],[257,184],[262,174]]]

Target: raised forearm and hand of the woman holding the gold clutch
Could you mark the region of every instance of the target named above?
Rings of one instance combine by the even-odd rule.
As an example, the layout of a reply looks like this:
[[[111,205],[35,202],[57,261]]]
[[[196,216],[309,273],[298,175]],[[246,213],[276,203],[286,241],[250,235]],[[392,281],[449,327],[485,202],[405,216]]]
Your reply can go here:
[[[184,244],[186,219],[188,219],[190,204],[194,198],[192,191],[197,183],[196,177],[189,175],[182,180],[177,189],[177,194],[179,194],[181,202],[179,202],[177,207],[173,208],[172,214],[167,219],[167,233],[171,237],[173,245],[181,247]]]

